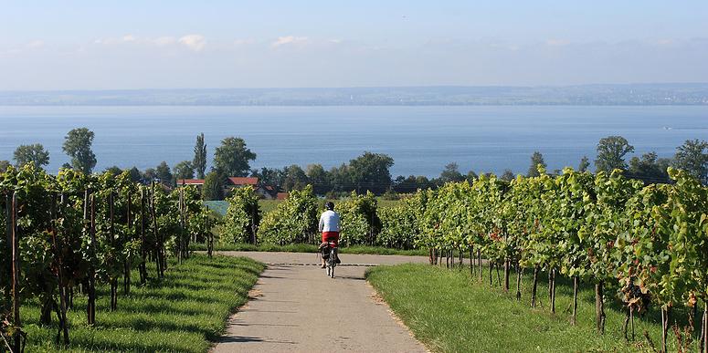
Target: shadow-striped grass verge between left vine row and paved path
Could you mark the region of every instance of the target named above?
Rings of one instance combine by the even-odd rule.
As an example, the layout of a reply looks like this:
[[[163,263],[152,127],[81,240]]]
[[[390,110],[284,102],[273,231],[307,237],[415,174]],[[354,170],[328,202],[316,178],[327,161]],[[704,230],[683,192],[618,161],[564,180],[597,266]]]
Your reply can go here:
[[[171,264],[164,280],[119,292],[118,310],[110,311],[108,288],[97,288],[96,325],[86,324],[86,297],[74,298],[69,311],[70,352],[174,351],[206,352],[224,332],[227,317],[247,301],[264,265],[248,258],[195,254],[182,265]],[[150,271],[149,275],[154,275]],[[137,272],[132,278],[139,278]],[[39,325],[37,302],[22,306],[27,352],[53,352],[57,318]]]

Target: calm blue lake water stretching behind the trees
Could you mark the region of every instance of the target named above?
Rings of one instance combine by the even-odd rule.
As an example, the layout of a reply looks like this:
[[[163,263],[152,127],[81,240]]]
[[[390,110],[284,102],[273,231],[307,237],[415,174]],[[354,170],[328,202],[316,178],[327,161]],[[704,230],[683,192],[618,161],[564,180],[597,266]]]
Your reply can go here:
[[[576,167],[608,135],[624,136],[636,154],[671,157],[684,140],[708,140],[708,107],[0,107],[0,127],[0,160],[42,143],[52,172],[69,161],[66,133],[87,127],[98,171],[191,160],[204,132],[210,158],[221,139],[245,139],[258,155],[253,168],[330,168],[374,151],[394,158],[394,176],[436,176],[450,161],[463,172],[525,172],[534,151],[549,170]]]

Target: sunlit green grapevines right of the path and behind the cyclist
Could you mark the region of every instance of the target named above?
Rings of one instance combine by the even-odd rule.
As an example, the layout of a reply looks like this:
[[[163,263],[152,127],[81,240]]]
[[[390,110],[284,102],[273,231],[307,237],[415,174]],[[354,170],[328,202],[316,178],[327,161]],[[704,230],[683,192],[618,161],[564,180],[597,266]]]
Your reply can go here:
[[[376,208],[372,194],[353,194],[338,202],[336,211],[342,215],[343,246],[423,248],[428,249],[430,264],[445,262],[450,267],[470,258],[471,275],[491,284],[495,270],[504,291],[515,286],[517,299],[523,296],[523,273],[530,272],[533,283],[526,295],[534,307],[539,276],[548,274],[552,313],[556,276],[565,276],[574,287],[571,325],[577,318],[578,287],[581,282],[591,284],[598,334],[605,331],[605,306],[613,297],[624,307],[622,329],[628,340],[637,336],[635,318],[643,317],[649,306],[660,307],[660,349],[666,351],[677,322],[673,316],[688,312],[682,344],[700,330],[700,339],[694,341],[704,352],[708,189],[684,171],[670,169],[670,175],[674,183],[650,185],[628,179],[621,171],[566,169],[551,176],[541,170],[538,177],[518,176],[512,182],[482,175],[471,183],[418,191],[383,209]],[[238,200],[230,200],[229,213],[246,209]],[[257,237],[280,245],[315,243],[321,202],[306,187],[292,192],[259,224],[249,223],[247,212],[238,213],[243,231],[234,238]]]

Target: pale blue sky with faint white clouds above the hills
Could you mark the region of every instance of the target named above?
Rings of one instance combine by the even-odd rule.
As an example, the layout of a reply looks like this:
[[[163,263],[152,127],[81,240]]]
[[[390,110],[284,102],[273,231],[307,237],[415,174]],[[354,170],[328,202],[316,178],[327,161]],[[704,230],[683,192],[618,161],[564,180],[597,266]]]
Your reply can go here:
[[[708,82],[708,1],[7,1],[0,90]]]

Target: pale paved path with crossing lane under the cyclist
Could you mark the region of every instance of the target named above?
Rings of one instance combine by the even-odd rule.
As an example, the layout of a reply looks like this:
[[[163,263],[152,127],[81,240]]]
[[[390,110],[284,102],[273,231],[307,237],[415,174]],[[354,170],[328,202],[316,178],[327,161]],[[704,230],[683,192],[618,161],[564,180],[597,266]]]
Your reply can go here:
[[[337,266],[332,279],[314,265],[316,254],[220,254],[270,265],[248,304],[229,319],[213,352],[427,351],[364,278],[367,265],[425,263],[427,257],[342,254],[345,264]]]

